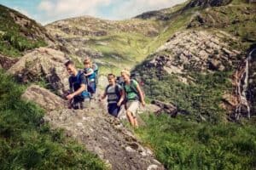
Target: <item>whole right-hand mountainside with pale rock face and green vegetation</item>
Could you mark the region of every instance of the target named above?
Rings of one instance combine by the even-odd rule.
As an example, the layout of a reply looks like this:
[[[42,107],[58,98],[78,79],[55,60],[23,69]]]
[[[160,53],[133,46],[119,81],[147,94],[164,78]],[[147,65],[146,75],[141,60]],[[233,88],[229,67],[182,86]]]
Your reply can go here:
[[[241,103],[233,75],[255,42],[255,4],[233,1],[213,8],[197,1],[189,4],[194,3],[200,8],[181,9],[180,15],[194,11],[186,31],[170,36],[135,70],[143,75],[150,98],[176,104],[198,120],[224,121],[226,115],[236,119],[233,114]]]

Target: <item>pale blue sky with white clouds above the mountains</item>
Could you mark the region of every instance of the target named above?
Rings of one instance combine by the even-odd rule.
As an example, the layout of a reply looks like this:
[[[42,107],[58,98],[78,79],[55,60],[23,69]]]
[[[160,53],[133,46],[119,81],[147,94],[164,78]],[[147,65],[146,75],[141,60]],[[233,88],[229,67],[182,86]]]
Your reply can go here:
[[[143,12],[169,8],[186,0],[0,0],[42,25],[55,20],[90,15],[106,20],[125,20]]]

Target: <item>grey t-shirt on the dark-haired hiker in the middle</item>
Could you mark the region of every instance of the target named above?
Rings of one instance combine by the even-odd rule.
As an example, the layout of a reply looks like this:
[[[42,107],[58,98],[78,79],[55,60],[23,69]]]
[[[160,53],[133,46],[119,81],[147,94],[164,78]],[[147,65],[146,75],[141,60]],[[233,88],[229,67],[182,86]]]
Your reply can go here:
[[[114,104],[119,102],[120,92],[123,90],[123,88],[119,84],[115,84],[112,86],[108,86],[105,90],[106,94],[108,95],[108,104]]]

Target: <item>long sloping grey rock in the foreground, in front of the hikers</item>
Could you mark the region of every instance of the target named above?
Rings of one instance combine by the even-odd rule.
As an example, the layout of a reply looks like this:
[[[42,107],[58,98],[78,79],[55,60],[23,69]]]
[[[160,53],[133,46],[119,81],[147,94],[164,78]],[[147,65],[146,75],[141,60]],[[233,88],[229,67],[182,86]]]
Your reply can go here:
[[[65,101],[44,88],[32,86],[23,99],[41,105],[45,122],[63,128],[67,136],[78,139],[86,148],[105,160],[112,169],[164,169],[152,151],[143,147],[121,122],[108,116],[99,103],[83,111],[65,109]]]

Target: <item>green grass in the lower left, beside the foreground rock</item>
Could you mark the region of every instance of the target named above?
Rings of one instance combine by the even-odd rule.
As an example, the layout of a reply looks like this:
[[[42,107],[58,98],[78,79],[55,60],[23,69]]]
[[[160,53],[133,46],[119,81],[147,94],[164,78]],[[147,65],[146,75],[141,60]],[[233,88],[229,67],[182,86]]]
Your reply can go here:
[[[44,111],[20,99],[25,87],[0,72],[0,169],[104,169],[102,161],[42,123]]]

